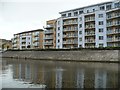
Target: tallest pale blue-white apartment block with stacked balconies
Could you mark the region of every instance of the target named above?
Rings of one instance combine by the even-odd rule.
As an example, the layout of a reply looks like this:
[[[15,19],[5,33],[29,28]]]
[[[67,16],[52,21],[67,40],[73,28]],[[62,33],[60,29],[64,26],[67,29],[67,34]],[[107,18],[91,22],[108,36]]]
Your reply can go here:
[[[120,0],[60,12],[56,48],[120,46]]]

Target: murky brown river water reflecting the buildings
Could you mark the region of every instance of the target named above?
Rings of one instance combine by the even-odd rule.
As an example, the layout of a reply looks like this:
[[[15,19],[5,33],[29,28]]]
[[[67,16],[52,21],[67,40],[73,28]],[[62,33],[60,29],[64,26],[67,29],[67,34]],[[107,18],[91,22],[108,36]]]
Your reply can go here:
[[[118,64],[4,58],[0,79],[2,88],[117,88]]]

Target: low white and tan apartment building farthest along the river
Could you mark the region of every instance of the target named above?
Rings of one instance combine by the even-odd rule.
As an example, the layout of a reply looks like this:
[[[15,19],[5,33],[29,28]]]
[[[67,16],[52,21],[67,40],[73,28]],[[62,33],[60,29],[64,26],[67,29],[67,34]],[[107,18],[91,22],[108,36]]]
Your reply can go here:
[[[31,30],[14,34],[12,40],[13,49],[42,49],[43,30]]]

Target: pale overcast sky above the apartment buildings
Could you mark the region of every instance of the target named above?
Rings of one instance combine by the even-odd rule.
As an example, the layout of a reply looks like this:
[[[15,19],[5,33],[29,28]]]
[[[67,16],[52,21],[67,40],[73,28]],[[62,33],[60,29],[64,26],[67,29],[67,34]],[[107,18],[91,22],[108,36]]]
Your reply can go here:
[[[0,0],[0,38],[42,29],[47,20],[60,17],[59,12],[110,0]]]

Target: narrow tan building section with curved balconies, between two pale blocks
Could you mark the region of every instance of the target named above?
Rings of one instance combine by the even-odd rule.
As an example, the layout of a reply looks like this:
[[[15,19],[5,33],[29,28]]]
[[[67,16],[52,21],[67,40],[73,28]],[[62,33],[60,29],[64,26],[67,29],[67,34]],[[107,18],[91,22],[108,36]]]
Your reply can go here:
[[[47,21],[44,29],[44,48],[56,48],[56,20]]]

